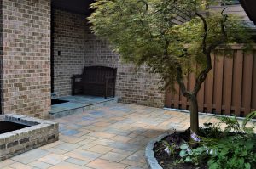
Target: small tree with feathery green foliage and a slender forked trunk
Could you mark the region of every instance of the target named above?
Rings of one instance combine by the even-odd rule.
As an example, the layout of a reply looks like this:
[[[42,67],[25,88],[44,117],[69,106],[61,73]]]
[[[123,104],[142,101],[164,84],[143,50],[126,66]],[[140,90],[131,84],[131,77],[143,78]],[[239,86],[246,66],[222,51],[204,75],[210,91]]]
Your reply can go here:
[[[197,93],[212,69],[218,46],[250,42],[242,21],[212,11],[213,0],[97,0],[91,4],[92,31],[107,39],[114,51],[135,65],[148,65],[165,87],[177,82],[190,102],[190,128],[198,133]],[[195,69],[196,67],[196,69]],[[192,91],[184,76],[195,73]]]

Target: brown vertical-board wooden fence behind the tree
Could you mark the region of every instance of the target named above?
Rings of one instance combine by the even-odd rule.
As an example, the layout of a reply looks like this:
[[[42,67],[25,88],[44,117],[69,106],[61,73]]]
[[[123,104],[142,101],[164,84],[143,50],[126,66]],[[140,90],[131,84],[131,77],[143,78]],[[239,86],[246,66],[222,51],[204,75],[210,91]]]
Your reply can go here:
[[[212,54],[212,70],[197,95],[200,112],[245,116],[256,110],[256,50],[231,49],[232,58],[224,50]],[[192,90],[195,76],[189,75],[185,84]],[[166,91],[166,107],[189,110],[189,101],[175,88],[177,93]]]

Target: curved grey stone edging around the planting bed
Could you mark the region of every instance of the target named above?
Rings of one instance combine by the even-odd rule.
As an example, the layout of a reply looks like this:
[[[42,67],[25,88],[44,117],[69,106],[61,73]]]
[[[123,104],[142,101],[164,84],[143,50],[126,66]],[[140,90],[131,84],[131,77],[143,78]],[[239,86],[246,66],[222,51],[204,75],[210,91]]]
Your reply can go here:
[[[145,158],[146,158],[146,161],[147,161],[147,164],[148,164],[148,168],[149,169],[163,169],[159,164],[158,164],[158,161],[154,158],[154,144],[156,142],[159,142],[160,140],[162,140],[163,138],[165,138],[166,136],[172,134],[174,131],[172,132],[166,132],[162,135],[160,135],[159,137],[157,138],[154,138],[153,140],[151,140],[146,149],[145,149]]]

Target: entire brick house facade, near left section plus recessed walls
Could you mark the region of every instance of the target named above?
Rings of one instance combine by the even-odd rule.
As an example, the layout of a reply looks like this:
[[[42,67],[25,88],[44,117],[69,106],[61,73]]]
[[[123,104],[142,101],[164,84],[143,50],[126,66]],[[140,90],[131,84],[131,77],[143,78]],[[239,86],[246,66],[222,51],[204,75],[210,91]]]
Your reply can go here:
[[[71,94],[71,77],[84,65],[106,65],[118,68],[116,95],[121,102],[163,106],[159,77],[145,66],[136,69],[121,62],[108,42],[90,32],[84,14],[51,8],[50,0],[2,0],[0,5],[2,114],[48,118],[51,52],[57,96]]]

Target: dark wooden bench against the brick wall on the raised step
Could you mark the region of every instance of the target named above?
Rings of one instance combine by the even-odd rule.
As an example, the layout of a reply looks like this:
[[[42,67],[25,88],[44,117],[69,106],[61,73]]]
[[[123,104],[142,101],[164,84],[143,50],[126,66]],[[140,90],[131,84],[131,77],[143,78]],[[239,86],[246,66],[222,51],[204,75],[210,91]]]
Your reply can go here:
[[[72,95],[115,95],[116,68],[105,66],[84,66],[82,75],[73,75]]]

